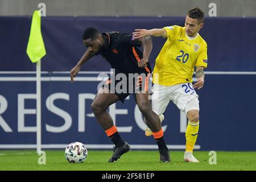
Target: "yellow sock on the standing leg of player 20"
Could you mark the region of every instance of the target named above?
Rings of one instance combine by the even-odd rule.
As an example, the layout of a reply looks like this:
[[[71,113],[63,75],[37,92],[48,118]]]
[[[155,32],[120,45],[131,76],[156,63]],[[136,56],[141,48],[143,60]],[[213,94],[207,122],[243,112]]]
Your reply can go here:
[[[193,152],[195,147],[197,134],[199,130],[199,121],[198,122],[189,122],[186,130],[186,152]]]

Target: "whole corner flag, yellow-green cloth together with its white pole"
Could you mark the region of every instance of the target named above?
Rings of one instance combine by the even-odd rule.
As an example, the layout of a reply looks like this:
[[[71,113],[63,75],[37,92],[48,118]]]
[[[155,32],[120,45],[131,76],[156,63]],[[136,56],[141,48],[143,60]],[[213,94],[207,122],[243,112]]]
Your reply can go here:
[[[42,148],[41,139],[41,59],[46,55],[43,36],[41,32],[40,11],[34,11],[30,29],[30,37],[27,44],[27,55],[36,63],[36,151]]]

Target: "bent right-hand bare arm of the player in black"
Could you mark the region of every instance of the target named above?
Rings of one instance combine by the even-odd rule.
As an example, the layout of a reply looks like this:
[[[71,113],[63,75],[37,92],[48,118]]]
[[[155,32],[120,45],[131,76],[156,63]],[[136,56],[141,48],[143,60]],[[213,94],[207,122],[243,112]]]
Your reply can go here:
[[[141,42],[143,47],[143,58],[140,61],[138,61],[138,66],[142,68],[147,66],[147,62],[150,57],[153,44],[152,44],[152,38],[150,36],[139,38],[139,42]]]

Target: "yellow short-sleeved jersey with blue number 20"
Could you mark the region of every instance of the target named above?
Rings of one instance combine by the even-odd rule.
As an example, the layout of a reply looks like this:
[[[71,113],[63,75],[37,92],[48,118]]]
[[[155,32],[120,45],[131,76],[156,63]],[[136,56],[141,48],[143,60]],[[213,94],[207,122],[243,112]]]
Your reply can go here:
[[[199,34],[190,38],[185,27],[164,27],[167,40],[156,57],[154,84],[171,86],[192,82],[194,68],[207,68],[207,43]]]

